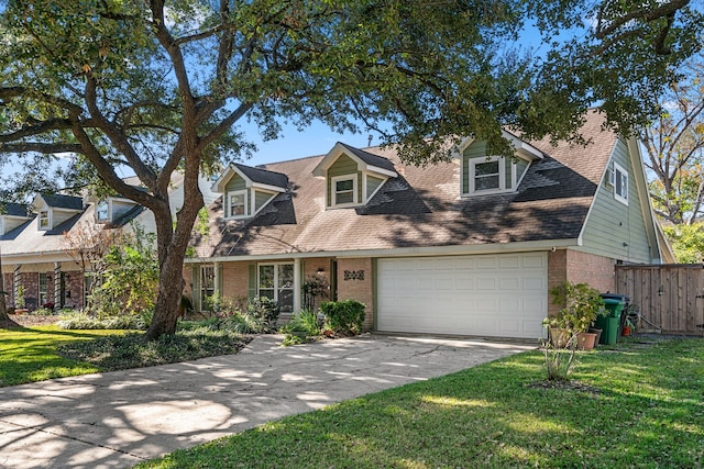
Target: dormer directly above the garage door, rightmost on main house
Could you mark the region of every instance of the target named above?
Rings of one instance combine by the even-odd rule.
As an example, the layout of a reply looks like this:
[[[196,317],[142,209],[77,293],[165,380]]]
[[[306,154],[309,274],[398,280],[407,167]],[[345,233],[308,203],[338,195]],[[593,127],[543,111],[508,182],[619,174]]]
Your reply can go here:
[[[503,135],[515,149],[514,158],[487,154],[482,141],[466,138],[460,144],[463,197],[514,192],[532,161],[542,159],[538,148],[506,131]]]

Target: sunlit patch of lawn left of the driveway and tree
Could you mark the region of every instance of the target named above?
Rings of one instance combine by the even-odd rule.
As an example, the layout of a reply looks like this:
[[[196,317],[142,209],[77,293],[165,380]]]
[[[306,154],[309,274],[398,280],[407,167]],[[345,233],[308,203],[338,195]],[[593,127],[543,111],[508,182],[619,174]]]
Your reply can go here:
[[[57,326],[0,328],[0,387],[99,371],[95,365],[62,357],[57,347],[123,331],[63,331]]]

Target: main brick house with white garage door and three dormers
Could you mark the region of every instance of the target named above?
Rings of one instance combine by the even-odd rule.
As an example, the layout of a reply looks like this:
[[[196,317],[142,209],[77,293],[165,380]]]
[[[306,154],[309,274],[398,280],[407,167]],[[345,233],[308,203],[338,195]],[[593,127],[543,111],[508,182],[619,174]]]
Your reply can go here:
[[[232,165],[186,278],[213,293],[301,308],[310,276],[330,299],[366,305],[381,332],[536,338],[564,280],[614,291],[614,265],[671,263],[639,145],[602,130],[586,146],[522,142],[516,158],[466,139],[449,163],[415,167],[393,149],[338,143],[317,157]]]

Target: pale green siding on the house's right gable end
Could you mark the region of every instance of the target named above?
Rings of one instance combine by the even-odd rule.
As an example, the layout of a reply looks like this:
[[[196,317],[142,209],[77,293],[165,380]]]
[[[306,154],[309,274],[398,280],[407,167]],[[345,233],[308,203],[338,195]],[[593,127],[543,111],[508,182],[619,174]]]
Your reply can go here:
[[[636,189],[635,169],[628,147],[618,141],[613,160],[628,170],[628,205],[614,198],[610,185],[602,182],[583,232],[583,250],[630,263],[650,263],[642,206]],[[653,246],[654,249],[654,246]]]

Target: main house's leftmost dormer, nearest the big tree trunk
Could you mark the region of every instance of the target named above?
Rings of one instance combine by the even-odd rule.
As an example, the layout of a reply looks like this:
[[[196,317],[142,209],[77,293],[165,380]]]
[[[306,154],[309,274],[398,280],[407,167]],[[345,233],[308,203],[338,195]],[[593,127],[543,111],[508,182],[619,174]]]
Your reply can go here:
[[[222,171],[211,190],[222,194],[224,219],[234,220],[254,216],[287,188],[286,175],[233,164]]]

